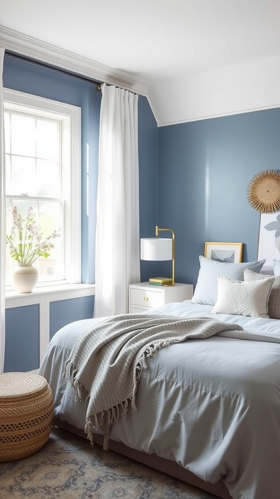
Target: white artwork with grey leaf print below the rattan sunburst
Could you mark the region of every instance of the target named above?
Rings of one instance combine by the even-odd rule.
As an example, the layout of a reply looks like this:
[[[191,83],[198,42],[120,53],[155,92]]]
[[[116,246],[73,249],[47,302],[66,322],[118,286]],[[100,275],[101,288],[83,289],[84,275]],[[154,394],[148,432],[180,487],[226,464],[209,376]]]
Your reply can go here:
[[[273,274],[273,260],[280,260],[280,211],[261,214],[258,259],[263,258],[262,272]]]

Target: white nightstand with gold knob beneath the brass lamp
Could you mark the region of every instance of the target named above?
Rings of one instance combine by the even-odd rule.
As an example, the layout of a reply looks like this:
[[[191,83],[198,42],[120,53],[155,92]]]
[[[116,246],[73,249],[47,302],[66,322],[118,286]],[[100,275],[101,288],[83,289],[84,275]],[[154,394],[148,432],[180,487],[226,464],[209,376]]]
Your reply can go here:
[[[129,313],[139,313],[173,301],[190,300],[192,295],[192,284],[175,283],[174,286],[154,286],[149,282],[130,284]]]

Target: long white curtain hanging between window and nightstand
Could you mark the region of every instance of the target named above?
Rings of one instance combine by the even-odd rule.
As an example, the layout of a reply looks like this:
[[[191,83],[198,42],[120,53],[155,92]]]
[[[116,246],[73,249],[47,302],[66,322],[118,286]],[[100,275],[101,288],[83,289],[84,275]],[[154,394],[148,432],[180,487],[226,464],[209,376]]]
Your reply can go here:
[[[140,281],[138,95],[102,85],[97,188],[95,317],[128,312]]]

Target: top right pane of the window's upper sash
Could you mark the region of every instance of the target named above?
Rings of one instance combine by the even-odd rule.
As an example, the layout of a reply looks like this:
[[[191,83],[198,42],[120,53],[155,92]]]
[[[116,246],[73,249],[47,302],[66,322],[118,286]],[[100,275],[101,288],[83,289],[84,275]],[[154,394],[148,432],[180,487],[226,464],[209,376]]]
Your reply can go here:
[[[37,120],[37,157],[58,160],[59,128],[57,122]]]

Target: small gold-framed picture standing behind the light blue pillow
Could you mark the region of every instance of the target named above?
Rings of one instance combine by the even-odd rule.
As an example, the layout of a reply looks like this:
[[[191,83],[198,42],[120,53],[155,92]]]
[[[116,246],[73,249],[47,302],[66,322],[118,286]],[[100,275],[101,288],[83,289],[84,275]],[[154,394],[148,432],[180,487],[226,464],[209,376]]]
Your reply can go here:
[[[211,260],[240,263],[242,243],[205,243],[204,256]]]

